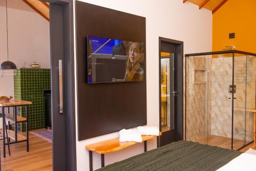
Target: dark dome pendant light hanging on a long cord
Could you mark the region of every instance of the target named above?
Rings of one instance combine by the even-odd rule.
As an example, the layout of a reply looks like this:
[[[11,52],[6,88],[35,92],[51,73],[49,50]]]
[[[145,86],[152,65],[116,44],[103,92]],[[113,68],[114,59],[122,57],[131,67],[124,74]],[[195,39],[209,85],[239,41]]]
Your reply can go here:
[[[17,67],[15,63],[9,61],[9,49],[8,49],[8,17],[7,17],[7,0],[6,0],[6,33],[7,33],[7,61],[4,61],[1,66],[1,76],[4,75],[16,75],[17,74]]]

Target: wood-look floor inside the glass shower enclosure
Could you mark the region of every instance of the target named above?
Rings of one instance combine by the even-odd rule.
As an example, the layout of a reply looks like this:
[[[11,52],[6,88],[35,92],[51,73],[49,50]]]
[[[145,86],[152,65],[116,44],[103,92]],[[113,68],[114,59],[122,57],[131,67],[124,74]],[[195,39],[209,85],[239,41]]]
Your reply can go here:
[[[196,142],[199,142],[201,144],[208,144],[213,146],[219,146],[222,148],[228,148],[231,149],[231,139],[216,135],[209,135],[208,137],[204,137],[201,139],[196,140]],[[249,142],[245,142],[249,143]],[[233,139],[233,149],[236,150],[244,145],[244,141]]]

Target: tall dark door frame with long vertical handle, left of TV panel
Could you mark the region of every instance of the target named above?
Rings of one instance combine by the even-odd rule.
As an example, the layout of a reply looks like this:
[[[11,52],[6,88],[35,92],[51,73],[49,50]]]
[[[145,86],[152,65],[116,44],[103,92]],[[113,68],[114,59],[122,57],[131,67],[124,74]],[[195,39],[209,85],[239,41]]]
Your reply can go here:
[[[73,0],[40,1],[50,3],[53,170],[76,170],[74,4]],[[63,69],[62,114],[59,112],[59,60]]]

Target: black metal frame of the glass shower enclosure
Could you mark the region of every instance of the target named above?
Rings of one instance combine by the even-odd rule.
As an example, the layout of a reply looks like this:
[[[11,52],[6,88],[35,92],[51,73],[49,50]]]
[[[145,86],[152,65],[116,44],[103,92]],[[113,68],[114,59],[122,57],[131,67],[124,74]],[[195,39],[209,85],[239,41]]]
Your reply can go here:
[[[225,51],[215,51],[215,52],[203,52],[203,53],[191,53],[191,54],[185,54],[185,140],[186,140],[186,120],[187,120],[187,110],[186,110],[186,106],[187,106],[187,58],[189,56],[204,56],[204,55],[219,55],[219,54],[232,54],[232,125],[231,125],[231,149],[233,149],[233,122],[234,122],[234,54],[238,53],[238,54],[243,54],[243,55],[251,55],[251,56],[255,56],[255,53],[251,53],[251,52],[245,52],[245,51],[239,51],[239,50],[225,50]],[[246,57],[246,62],[247,62],[247,57]],[[246,65],[246,70],[247,70],[247,65]],[[245,106],[246,108],[246,106]],[[246,113],[246,109],[245,109],[245,113]],[[246,115],[245,115],[246,117]],[[253,141],[244,144],[242,147],[238,148],[237,151],[239,151],[240,149],[244,148],[245,146],[249,145],[250,143],[252,143]]]

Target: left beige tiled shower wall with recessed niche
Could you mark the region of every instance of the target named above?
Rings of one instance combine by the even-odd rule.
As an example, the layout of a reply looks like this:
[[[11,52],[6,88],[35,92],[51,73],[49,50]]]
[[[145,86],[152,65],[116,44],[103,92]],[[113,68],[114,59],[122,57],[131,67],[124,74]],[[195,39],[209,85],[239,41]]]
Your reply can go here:
[[[210,126],[210,77],[211,58],[187,58],[186,139],[196,141],[207,137]]]

